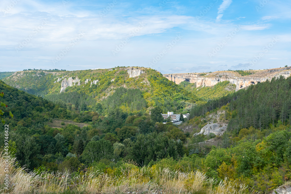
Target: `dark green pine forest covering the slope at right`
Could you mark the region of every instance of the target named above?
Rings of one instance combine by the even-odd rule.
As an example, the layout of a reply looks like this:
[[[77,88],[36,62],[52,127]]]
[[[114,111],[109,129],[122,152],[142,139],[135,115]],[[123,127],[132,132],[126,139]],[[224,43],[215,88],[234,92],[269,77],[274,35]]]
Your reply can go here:
[[[273,78],[270,81],[250,86],[225,97],[196,106],[191,118],[228,104],[227,114],[231,116],[229,129],[255,127],[267,129],[277,124],[291,123],[291,77]]]

